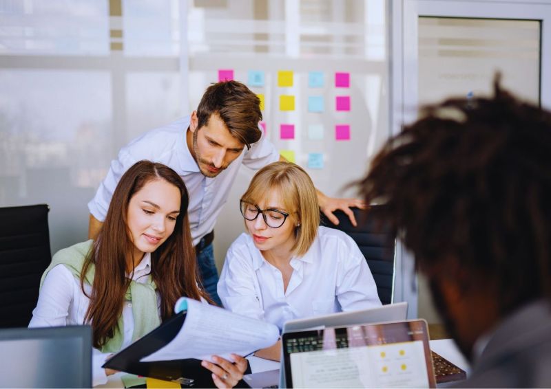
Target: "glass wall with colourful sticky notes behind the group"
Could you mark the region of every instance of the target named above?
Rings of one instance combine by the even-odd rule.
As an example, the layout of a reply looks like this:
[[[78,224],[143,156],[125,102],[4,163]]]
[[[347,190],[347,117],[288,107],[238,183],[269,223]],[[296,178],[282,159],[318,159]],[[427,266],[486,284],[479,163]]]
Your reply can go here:
[[[267,137],[327,194],[351,195],[388,137],[384,0],[0,0],[0,26],[0,206],[48,203],[52,252],[87,237],[118,149],[189,114],[224,71],[262,95]]]

